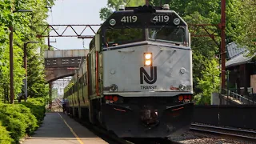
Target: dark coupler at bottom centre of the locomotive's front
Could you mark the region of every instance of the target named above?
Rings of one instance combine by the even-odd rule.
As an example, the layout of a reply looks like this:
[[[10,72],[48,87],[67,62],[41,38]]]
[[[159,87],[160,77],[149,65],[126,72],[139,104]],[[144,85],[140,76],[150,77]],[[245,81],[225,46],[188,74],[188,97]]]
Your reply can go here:
[[[154,110],[149,106],[144,106],[144,108],[141,110],[140,116],[142,125],[146,126],[147,128],[152,128],[154,126],[158,126],[159,124],[158,110]]]

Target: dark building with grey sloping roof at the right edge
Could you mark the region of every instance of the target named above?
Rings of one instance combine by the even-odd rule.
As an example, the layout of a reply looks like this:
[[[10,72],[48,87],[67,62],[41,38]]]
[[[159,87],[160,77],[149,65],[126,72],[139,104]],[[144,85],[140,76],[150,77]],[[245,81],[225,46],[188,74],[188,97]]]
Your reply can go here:
[[[228,44],[226,50],[227,88],[241,95],[248,95],[247,92],[256,93],[255,54],[247,57],[246,54],[249,54],[249,51],[238,47],[234,42]]]

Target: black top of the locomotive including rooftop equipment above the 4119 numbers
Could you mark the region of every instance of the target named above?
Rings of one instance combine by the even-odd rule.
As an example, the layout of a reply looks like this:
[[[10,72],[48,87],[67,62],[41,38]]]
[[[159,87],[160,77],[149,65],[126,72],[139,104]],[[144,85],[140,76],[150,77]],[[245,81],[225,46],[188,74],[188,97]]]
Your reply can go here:
[[[102,24],[102,27],[187,26],[186,22],[174,10],[154,9],[150,11],[150,8],[143,6],[141,9],[143,8],[144,10],[134,8],[134,10],[114,11]],[[174,19],[180,21],[178,25],[174,24]]]

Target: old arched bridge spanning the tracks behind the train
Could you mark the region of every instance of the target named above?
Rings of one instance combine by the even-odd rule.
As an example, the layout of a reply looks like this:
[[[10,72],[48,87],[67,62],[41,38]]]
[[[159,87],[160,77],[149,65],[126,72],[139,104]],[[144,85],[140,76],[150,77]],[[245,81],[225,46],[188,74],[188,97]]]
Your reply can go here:
[[[46,82],[74,75],[85,60],[89,50],[47,50],[45,51]]]

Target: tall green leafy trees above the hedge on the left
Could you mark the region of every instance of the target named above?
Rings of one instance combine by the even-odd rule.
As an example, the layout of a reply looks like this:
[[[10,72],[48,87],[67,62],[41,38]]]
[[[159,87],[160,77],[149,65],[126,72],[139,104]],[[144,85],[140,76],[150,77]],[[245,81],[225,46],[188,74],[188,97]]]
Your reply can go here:
[[[28,56],[28,94],[31,97],[46,96],[48,87],[44,80],[43,72],[43,51],[46,49],[45,39],[36,38],[36,35],[42,33],[43,27],[39,25],[46,24],[48,9],[46,6],[52,6],[54,0],[0,0],[0,98],[6,97],[10,90],[10,52],[9,52],[9,27],[14,27],[14,94],[15,97],[22,92],[25,78],[25,69],[23,67],[23,48],[25,42],[38,41],[38,44],[27,45]],[[25,13],[18,10],[33,10]],[[41,48],[41,53],[36,55],[34,51]]]

